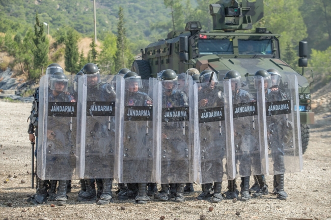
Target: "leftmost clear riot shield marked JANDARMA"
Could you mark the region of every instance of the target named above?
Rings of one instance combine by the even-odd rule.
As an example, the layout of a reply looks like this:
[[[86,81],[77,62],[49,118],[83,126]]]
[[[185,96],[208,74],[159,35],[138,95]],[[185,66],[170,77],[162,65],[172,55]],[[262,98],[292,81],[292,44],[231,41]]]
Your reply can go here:
[[[77,102],[73,77],[40,79],[37,174],[41,179],[77,179]],[[79,166],[79,161],[77,161]]]

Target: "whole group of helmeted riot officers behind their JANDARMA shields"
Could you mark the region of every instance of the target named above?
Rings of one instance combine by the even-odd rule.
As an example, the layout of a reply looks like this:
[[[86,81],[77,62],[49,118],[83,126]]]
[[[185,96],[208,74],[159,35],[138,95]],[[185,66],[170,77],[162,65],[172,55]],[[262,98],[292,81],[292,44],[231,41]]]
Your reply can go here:
[[[100,75],[91,63],[74,77],[57,64],[46,73],[30,116],[30,141],[38,137],[30,203],[48,197],[65,205],[79,179],[77,201],[108,204],[114,178],[119,200],[144,204],[151,196],[184,202],[193,182],[202,184],[198,200],[237,198],[240,177],[247,201],[268,194],[264,175],[274,175],[272,193],[286,199],[284,173],[302,169],[293,75],[270,69],[242,79],[231,70],[219,80],[211,70],[189,69],[142,80],[128,69]]]

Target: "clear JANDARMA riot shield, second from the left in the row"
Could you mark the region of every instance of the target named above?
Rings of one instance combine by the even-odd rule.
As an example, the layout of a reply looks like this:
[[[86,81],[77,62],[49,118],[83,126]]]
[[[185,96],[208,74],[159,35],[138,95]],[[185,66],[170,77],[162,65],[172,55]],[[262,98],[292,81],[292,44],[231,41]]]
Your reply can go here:
[[[83,75],[78,81],[80,178],[113,178],[115,104],[113,75]],[[121,76],[116,76],[121,77]]]

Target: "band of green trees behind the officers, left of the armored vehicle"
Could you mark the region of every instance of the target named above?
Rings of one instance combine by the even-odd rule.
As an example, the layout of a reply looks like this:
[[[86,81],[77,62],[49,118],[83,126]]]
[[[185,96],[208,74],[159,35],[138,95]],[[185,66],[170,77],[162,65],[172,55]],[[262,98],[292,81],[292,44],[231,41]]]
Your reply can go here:
[[[49,39],[44,33],[44,26],[36,13],[36,24],[33,29],[28,29],[24,38],[20,33],[14,35],[6,33],[0,47],[8,55],[14,57],[11,66],[19,65],[21,72],[27,74],[30,80],[38,79],[44,75],[45,68],[52,62],[57,62],[64,54],[65,71],[76,74],[87,64],[93,62],[100,68],[101,74],[116,74],[119,69],[130,67],[134,60],[133,54],[127,46],[126,30],[124,27],[123,8],[119,9],[119,21],[117,25],[117,36],[109,33],[102,42],[100,54],[97,52],[94,39],[90,44],[88,56],[78,51],[78,40],[80,34],[71,27],[64,28],[54,35],[55,42],[49,45]],[[65,47],[60,47],[64,45]],[[48,57],[49,48],[54,53]],[[8,64],[0,64],[0,68],[7,68]]]

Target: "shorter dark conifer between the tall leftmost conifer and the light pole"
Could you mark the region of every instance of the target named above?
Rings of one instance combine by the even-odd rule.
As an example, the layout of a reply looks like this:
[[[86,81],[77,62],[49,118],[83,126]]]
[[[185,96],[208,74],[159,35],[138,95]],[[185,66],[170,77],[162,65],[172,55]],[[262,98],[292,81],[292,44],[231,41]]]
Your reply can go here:
[[[67,40],[65,41],[66,49],[64,53],[65,70],[70,73],[77,73],[78,62],[78,45],[77,35],[73,29],[68,31]]]

